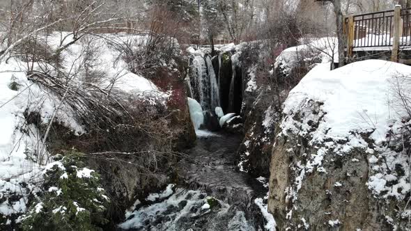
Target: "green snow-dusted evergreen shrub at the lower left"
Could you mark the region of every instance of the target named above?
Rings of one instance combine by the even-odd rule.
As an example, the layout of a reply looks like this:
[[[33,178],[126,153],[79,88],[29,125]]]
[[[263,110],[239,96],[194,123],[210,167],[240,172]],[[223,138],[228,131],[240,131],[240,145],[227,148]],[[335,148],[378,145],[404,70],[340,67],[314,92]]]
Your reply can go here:
[[[22,218],[23,230],[101,230],[109,202],[99,175],[85,168],[83,154],[66,152],[49,164],[41,191]]]

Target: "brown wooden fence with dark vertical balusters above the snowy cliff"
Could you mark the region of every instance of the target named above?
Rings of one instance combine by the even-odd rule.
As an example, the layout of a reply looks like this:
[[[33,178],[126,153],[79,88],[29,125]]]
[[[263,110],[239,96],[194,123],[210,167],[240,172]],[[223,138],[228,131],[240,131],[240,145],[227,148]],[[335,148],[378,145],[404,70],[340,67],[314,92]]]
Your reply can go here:
[[[411,8],[348,15],[343,22],[348,57],[355,50],[391,49],[391,61],[398,61],[398,50],[411,47]]]

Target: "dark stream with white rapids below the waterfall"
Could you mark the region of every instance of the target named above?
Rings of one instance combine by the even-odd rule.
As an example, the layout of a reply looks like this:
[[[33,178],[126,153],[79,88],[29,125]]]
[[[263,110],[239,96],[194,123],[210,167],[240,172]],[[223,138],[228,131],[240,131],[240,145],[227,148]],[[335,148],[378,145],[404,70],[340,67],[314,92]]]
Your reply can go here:
[[[241,138],[208,132],[198,136],[178,163],[178,184],[137,201],[120,230],[274,230],[274,219],[265,212],[265,178],[237,170]]]

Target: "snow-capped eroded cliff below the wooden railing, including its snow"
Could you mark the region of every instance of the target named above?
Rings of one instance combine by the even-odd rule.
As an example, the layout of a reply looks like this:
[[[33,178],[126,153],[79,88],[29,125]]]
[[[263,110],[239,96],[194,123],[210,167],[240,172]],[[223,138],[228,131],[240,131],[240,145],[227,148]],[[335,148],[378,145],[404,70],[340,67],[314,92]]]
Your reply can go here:
[[[392,72],[366,76],[362,70],[367,67],[361,65],[368,64],[330,72],[328,82],[322,80],[324,85],[345,86],[329,88],[327,93],[317,89],[330,95],[319,94],[316,88],[321,87],[309,82],[320,74],[314,70],[315,76],[307,75],[286,100],[270,165],[268,211],[277,230],[408,230],[409,130],[404,128],[410,122],[406,116],[385,114],[384,93],[389,94],[387,79]],[[341,81],[339,74],[362,76],[353,85],[361,89],[362,99],[350,98],[360,90],[341,84],[348,80]],[[316,99],[308,88],[316,92]],[[371,88],[377,88],[378,94]],[[346,98],[335,104],[333,95],[339,91]],[[364,115],[373,114],[373,119],[363,119],[359,109]]]

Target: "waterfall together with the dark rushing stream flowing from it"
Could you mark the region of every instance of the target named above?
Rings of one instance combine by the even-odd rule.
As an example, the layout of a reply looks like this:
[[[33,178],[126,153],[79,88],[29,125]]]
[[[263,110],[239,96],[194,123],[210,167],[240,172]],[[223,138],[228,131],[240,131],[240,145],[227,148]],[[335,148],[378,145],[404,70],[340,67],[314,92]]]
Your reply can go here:
[[[236,156],[242,137],[199,130],[201,122],[223,116],[220,106],[222,56],[218,68],[208,55],[194,56],[187,79],[190,116],[198,136],[194,148],[178,162],[178,184],[137,201],[119,225],[121,230],[264,230],[270,222],[265,212],[267,182],[238,171]],[[238,56],[231,58],[230,106],[236,97],[234,84]],[[215,70],[219,73],[216,76]],[[224,89],[223,89],[224,90]],[[219,115],[216,115],[219,114]],[[221,125],[220,125],[221,126]]]

